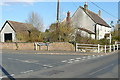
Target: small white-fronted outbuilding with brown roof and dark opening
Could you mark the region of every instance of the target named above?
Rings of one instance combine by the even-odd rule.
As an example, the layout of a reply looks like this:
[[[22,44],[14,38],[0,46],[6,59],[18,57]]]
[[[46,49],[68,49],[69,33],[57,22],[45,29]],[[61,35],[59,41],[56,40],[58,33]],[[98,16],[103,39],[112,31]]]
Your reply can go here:
[[[37,31],[32,24],[7,20],[0,31],[1,42],[25,42],[23,38],[30,37],[33,31]]]

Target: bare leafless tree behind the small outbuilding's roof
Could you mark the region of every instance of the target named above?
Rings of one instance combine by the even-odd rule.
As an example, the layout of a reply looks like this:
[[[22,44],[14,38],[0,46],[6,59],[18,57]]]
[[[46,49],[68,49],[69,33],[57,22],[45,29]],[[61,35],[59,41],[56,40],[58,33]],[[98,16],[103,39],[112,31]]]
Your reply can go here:
[[[43,20],[37,13],[31,12],[28,16],[28,19],[25,20],[25,22],[32,24],[39,31],[43,31]]]

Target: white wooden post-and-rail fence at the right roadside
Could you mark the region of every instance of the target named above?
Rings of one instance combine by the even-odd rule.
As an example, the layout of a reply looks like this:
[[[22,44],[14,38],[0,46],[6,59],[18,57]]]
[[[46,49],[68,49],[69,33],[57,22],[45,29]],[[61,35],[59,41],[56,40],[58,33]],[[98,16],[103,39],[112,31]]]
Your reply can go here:
[[[100,44],[79,44],[76,43],[76,51],[80,52],[112,52],[120,49],[120,44],[100,45]]]

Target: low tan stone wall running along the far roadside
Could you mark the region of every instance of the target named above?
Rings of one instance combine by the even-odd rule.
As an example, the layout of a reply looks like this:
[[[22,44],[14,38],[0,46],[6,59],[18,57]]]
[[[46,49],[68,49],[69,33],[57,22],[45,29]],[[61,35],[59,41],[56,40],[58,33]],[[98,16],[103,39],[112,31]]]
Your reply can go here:
[[[12,49],[12,50],[34,50],[34,43],[0,43],[0,49]],[[37,46],[37,50],[40,51],[74,51],[74,45],[68,42],[54,42],[49,43],[48,46]]]

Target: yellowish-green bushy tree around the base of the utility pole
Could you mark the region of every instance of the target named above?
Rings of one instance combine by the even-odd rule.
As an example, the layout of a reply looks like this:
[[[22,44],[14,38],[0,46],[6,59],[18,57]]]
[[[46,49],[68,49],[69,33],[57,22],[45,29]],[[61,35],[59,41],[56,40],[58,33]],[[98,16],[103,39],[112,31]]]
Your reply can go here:
[[[46,32],[49,34],[47,36],[51,42],[68,42],[71,41],[72,35],[74,32],[74,28],[71,25],[65,24],[65,23],[59,23],[59,27],[56,28],[56,24],[51,24],[49,32]]]

